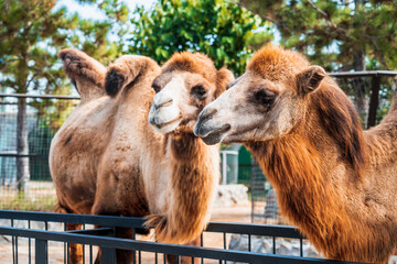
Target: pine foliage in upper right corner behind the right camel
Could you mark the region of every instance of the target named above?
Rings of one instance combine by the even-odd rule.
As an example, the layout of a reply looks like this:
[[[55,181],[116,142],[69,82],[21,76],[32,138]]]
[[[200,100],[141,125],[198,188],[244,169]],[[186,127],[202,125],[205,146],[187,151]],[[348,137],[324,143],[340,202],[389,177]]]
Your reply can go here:
[[[281,44],[304,52],[326,70],[397,68],[397,3],[374,0],[239,0],[281,34]],[[364,82],[353,82],[364,112]]]

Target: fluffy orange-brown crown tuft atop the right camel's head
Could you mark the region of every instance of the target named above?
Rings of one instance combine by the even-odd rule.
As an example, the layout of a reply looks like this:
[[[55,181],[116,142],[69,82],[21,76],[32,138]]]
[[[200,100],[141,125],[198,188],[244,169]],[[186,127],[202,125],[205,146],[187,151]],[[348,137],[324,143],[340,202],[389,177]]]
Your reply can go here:
[[[247,70],[260,75],[271,81],[288,80],[309,67],[308,59],[290,50],[267,45],[255,53],[247,65]]]

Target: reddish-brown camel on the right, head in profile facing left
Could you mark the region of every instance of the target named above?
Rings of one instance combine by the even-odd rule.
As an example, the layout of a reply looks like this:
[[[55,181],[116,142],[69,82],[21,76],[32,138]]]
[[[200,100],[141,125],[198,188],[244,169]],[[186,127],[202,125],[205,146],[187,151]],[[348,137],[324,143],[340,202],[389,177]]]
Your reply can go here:
[[[363,131],[319,66],[268,45],[200,114],[204,142],[243,142],[283,216],[329,258],[385,263],[397,242],[397,112]]]

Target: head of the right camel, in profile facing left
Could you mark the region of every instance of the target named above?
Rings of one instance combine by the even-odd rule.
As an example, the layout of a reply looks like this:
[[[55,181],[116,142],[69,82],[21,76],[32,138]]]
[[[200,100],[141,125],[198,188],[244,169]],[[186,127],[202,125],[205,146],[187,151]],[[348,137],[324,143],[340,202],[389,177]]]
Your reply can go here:
[[[267,45],[243,76],[200,113],[194,133],[205,143],[268,141],[304,119],[309,98],[326,76],[299,53]]]

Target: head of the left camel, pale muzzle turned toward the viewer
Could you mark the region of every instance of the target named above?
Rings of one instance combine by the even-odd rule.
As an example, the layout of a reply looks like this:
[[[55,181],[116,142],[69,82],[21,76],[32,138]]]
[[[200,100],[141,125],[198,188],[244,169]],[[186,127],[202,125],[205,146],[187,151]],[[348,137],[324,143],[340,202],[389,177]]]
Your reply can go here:
[[[198,113],[215,100],[234,79],[201,53],[174,54],[161,68],[152,88],[155,91],[149,123],[161,133],[193,132]]]

